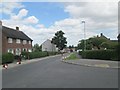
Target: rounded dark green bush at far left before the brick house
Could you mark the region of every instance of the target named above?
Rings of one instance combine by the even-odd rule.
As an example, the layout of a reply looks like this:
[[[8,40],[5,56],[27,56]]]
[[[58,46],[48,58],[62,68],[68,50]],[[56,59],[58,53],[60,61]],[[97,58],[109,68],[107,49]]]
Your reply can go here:
[[[11,53],[3,54],[2,55],[2,64],[5,63],[12,63],[14,61],[14,55]]]

